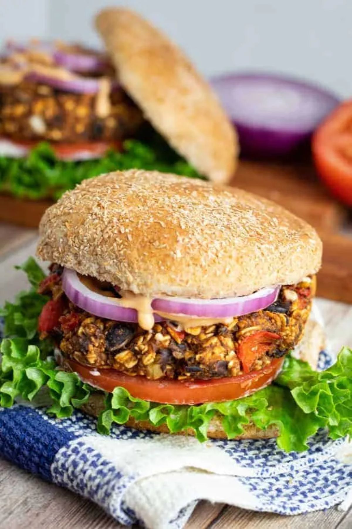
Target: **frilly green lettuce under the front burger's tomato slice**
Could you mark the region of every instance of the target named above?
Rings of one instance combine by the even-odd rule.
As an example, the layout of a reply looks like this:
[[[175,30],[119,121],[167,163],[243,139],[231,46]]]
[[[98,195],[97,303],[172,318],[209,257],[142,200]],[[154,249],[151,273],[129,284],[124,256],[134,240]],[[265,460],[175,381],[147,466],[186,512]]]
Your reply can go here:
[[[57,370],[53,344],[39,341],[36,322],[48,298],[36,293],[44,272],[33,258],[22,269],[31,288],[6,302],[4,340],[1,344],[0,406],[10,407],[18,396],[33,400],[46,390],[51,400],[47,412],[69,417],[74,408],[86,403],[97,389],[82,382],[77,373]],[[45,388],[45,389],[44,389]],[[102,392],[100,392],[102,393]],[[264,430],[275,424],[280,435],[277,445],[286,452],[308,448],[309,437],[327,428],[331,439],[352,436],[352,350],[344,348],[325,371],[313,371],[309,364],[287,357],[275,382],[253,395],[223,403],[196,406],[156,404],[132,397],[124,388],[105,393],[105,409],[98,417],[98,432],[108,434],[114,423],[124,424],[129,416],[166,423],[171,432],[193,428],[199,441],[207,439],[210,420],[217,415],[228,437],[243,432],[253,422]]]

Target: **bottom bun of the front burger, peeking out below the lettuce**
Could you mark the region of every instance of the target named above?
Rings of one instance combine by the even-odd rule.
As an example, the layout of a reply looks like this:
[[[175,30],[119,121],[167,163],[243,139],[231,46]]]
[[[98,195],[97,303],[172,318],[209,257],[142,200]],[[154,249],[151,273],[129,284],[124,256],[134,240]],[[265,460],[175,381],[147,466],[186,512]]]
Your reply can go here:
[[[93,417],[97,417],[100,412],[104,409],[104,396],[103,394],[91,395],[88,402],[83,404],[80,408],[82,412],[87,413]],[[164,423],[160,426],[154,426],[154,424],[149,421],[136,421],[135,418],[130,417],[128,421],[124,424],[136,430],[144,430],[155,433],[171,433],[168,426]],[[182,432],[178,432],[173,435],[192,435],[194,436],[194,431],[192,428],[188,428]],[[221,420],[218,416],[215,416],[211,419],[207,435],[209,439],[228,439]],[[279,435],[279,430],[276,426],[270,425],[266,430],[260,430],[253,423],[247,424],[244,426],[244,432],[237,437],[233,437],[234,440],[239,439],[272,439]]]

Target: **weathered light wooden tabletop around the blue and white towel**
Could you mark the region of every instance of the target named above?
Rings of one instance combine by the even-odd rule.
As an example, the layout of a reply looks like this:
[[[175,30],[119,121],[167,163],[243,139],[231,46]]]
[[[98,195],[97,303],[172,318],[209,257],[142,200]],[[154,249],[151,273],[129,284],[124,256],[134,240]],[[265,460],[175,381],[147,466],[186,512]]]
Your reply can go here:
[[[13,266],[34,254],[36,238],[35,230],[0,223],[0,306],[5,299],[12,299],[19,289],[25,288],[24,276]],[[318,299],[318,305],[326,324],[329,350],[338,352],[342,345],[352,346],[352,305],[326,299]],[[121,526],[89,500],[47,484],[0,459],[0,527],[107,529]],[[201,501],[187,529],[205,527],[348,529],[352,527],[352,509],[348,513],[331,508],[285,517]]]

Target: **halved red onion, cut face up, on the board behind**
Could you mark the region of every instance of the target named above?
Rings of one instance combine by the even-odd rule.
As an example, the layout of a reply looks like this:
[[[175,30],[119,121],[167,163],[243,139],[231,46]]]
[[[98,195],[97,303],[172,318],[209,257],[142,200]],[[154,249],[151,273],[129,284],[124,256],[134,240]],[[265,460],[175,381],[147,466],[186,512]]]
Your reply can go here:
[[[228,74],[211,85],[237,127],[241,152],[254,157],[297,149],[339,103],[329,90],[280,75]]]

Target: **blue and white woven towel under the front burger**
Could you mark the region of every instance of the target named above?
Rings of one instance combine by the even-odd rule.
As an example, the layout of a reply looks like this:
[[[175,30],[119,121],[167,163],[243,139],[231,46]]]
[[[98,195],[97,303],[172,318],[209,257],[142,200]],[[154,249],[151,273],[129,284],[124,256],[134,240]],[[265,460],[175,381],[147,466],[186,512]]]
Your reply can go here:
[[[322,353],[320,368],[329,357]],[[310,450],[286,454],[275,440],[209,441],[115,426],[109,437],[76,412],[0,408],[0,454],[18,466],[101,505],[123,524],[182,527],[200,499],[280,514],[352,500],[346,440],[316,435]]]

